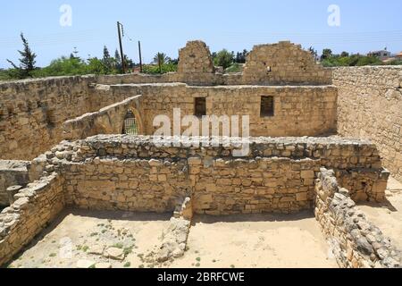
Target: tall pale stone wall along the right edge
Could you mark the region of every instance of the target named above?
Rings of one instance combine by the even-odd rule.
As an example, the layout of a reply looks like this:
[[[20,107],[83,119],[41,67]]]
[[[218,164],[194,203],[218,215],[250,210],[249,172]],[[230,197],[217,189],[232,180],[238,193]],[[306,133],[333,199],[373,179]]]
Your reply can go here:
[[[402,180],[402,67],[337,68],[333,83],[339,135],[372,140],[385,167]]]

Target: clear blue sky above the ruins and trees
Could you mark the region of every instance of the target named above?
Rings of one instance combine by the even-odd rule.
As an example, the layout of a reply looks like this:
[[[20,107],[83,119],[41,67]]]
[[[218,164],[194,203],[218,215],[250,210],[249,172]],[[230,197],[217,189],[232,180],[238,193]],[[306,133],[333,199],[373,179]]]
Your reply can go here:
[[[60,7],[72,9],[71,27],[60,25]],[[328,7],[340,8],[340,26],[328,25]],[[81,57],[111,54],[118,46],[116,21],[124,24],[125,53],[138,63],[141,40],[145,62],[156,52],[177,57],[187,40],[202,39],[212,51],[251,49],[255,44],[289,39],[322,51],[366,53],[385,46],[402,51],[402,1],[350,0],[13,0],[0,10],[0,68],[17,61],[24,32],[43,66],[74,46]],[[131,39],[131,40],[130,40]]]

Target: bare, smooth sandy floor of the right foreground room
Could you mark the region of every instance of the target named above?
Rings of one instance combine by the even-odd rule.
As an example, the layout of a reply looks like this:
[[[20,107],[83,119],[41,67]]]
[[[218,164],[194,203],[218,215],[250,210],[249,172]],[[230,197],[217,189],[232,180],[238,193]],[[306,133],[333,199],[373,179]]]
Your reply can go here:
[[[196,217],[172,267],[338,267],[311,212]]]

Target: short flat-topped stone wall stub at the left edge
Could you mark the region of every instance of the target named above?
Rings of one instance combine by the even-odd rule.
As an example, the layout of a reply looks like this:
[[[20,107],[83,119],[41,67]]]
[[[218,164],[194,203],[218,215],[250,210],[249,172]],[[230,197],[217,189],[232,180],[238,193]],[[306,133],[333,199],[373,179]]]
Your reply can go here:
[[[27,161],[0,160],[0,206],[9,206],[7,188],[14,185],[26,186],[29,182]]]

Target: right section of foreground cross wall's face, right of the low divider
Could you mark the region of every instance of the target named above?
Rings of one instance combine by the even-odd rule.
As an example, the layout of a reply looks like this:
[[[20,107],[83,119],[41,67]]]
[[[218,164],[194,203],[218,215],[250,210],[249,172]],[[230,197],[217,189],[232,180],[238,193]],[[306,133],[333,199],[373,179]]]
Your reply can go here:
[[[311,209],[318,160],[188,159],[196,214],[295,213]]]

